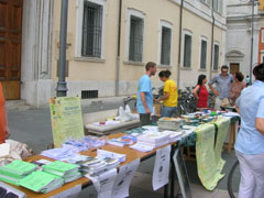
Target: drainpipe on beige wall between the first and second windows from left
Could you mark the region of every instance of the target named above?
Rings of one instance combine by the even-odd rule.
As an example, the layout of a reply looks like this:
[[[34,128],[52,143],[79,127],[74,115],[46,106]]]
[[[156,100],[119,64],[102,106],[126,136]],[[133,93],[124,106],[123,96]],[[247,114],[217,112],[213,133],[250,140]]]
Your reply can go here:
[[[116,97],[119,96],[119,76],[120,76],[120,43],[121,43],[121,15],[122,15],[122,0],[119,0],[119,24],[118,24],[118,55],[117,55],[117,70],[116,70]]]

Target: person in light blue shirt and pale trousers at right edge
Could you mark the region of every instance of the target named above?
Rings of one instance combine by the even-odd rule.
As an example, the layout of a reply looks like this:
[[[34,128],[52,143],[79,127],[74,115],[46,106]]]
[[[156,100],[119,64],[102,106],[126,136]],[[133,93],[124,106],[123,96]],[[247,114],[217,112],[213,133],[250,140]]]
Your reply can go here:
[[[241,130],[235,141],[240,162],[240,198],[264,196],[264,63],[253,69],[255,81],[237,100]]]

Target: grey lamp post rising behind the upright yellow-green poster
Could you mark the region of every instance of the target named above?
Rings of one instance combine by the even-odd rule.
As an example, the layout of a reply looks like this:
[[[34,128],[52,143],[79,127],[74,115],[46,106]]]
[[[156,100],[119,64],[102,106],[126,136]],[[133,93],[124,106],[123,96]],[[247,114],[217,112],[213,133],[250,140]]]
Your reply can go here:
[[[65,81],[66,68],[66,42],[67,42],[67,18],[68,18],[68,0],[62,0],[61,10],[61,32],[59,32],[59,65],[58,65],[58,82],[57,97],[67,96],[67,82]]]

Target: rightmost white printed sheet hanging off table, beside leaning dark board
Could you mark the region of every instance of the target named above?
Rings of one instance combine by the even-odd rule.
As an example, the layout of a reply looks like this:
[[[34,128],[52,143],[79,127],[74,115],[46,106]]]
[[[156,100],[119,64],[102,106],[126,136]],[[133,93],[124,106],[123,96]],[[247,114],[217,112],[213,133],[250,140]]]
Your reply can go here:
[[[154,190],[168,184],[170,150],[172,146],[167,145],[156,151],[155,166],[152,176],[152,186]]]

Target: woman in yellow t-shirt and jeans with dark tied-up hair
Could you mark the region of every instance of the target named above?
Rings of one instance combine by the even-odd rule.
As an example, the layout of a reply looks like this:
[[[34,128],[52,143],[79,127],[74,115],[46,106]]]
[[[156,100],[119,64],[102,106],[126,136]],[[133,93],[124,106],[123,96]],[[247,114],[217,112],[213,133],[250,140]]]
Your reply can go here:
[[[169,70],[162,70],[158,77],[164,81],[163,97],[156,101],[163,100],[162,117],[172,118],[177,110],[178,91],[177,85],[174,80],[169,79],[172,73]]]

